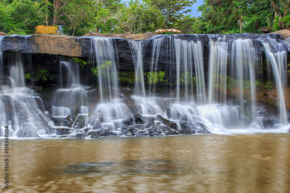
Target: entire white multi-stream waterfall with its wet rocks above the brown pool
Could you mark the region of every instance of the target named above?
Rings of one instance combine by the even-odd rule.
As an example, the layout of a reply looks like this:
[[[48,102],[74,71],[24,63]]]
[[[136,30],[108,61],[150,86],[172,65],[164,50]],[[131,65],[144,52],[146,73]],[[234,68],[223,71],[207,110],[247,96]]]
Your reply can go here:
[[[133,92],[118,87],[115,49],[119,41],[93,37],[95,63],[84,68],[96,77],[92,81],[97,80],[96,89],[94,85],[81,85],[79,64],[60,61],[59,89],[51,95],[39,94],[44,102],[25,87],[23,56],[16,55],[9,60],[6,78],[11,79],[11,86],[1,85],[1,128],[11,125],[14,136],[21,137],[282,131],[288,123],[284,100],[287,52],[273,38],[251,38],[195,34],[127,40],[135,68]],[[264,55],[259,43],[264,46]],[[266,96],[268,92],[257,88],[262,84],[259,78],[266,74],[261,75],[259,70],[266,63],[268,79],[276,83],[280,99],[278,116],[268,115],[263,111],[268,104],[258,101],[257,95]],[[7,104],[13,111],[3,110]]]

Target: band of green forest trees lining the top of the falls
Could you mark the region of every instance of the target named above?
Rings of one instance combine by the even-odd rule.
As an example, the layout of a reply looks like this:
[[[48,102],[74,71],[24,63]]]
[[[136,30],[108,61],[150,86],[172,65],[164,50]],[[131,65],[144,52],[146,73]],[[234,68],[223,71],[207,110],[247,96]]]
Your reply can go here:
[[[290,0],[204,0],[201,16],[189,15],[196,0],[1,0],[0,31],[34,34],[36,25],[58,34],[144,33],[175,28],[182,33],[261,33],[290,23]]]

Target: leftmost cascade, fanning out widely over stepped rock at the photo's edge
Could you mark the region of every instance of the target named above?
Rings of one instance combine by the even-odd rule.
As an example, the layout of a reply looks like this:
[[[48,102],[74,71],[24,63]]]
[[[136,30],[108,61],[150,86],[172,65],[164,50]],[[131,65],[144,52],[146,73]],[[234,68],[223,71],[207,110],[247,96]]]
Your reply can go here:
[[[0,126],[1,136],[4,126],[10,126],[10,136],[39,137],[53,133],[48,125],[51,118],[44,114],[44,104],[39,96],[25,87],[23,55],[11,54],[10,80],[11,86],[1,85],[0,94]]]

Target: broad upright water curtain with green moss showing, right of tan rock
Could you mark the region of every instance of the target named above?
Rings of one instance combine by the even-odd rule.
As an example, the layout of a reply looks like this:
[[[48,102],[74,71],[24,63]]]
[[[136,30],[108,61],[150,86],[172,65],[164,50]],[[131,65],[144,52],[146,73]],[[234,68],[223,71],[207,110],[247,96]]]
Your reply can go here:
[[[100,100],[111,100],[118,93],[118,75],[112,38],[93,38],[97,62]]]

